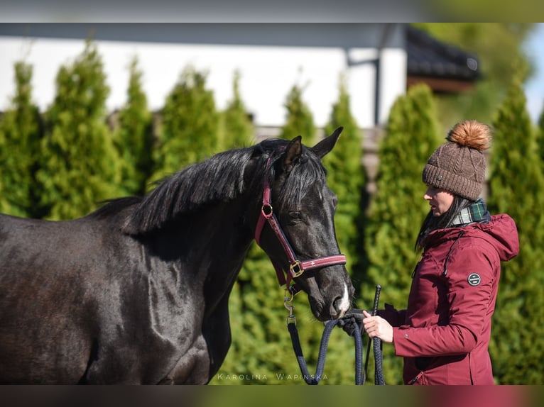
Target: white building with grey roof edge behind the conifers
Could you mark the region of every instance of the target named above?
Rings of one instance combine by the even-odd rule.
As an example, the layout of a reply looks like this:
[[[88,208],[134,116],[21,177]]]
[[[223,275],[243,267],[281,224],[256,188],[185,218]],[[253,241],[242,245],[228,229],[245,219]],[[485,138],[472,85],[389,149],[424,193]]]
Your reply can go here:
[[[361,128],[373,128],[406,92],[405,31],[403,23],[1,23],[0,111],[15,91],[15,62],[33,65],[33,97],[45,110],[59,67],[92,38],[111,88],[111,111],[126,101],[128,66],[136,56],[154,111],[192,65],[207,72],[220,109],[232,98],[238,70],[241,98],[256,126],[283,125],[283,104],[294,84],[303,87],[315,124],[323,126],[344,74],[354,118]]]

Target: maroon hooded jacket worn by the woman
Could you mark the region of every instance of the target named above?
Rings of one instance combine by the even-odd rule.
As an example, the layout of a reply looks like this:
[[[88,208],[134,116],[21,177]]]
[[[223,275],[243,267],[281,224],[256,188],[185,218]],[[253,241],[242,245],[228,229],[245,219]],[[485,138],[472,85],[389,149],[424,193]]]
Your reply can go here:
[[[415,268],[408,307],[379,315],[393,325],[405,384],[494,384],[487,351],[501,261],[519,251],[508,215],[434,230]]]

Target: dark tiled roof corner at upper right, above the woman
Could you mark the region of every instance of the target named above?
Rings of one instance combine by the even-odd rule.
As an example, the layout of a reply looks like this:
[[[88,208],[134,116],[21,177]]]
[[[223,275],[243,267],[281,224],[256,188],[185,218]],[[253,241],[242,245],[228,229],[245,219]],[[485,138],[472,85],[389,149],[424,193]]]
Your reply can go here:
[[[427,33],[406,25],[408,76],[437,77],[474,82],[479,79],[479,62],[453,45],[441,43]]]

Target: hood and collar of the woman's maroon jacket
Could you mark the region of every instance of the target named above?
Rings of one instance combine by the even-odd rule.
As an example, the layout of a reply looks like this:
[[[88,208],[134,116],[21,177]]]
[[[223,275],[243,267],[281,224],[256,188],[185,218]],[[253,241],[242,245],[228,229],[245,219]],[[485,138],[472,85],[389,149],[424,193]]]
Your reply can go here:
[[[486,240],[499,253],[499,258],[503,262],[513,259],[519,253],[518,228],[513,219],[506,214],[491,216],[489,223],[473,223],[463,228],[434,230],[428,237],[427,247],[459,238]]]

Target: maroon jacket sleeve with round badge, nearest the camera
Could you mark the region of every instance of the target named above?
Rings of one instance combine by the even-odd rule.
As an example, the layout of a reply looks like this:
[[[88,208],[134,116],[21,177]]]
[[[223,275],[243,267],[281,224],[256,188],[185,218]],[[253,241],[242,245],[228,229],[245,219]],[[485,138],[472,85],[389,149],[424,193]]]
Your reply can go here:
[[[443,325],[423,328],[408,325],[393,328],[396,355],[420,357],[471,352],[482,332],[490,329],[499,270],[496,250],[490,250],[485,242],[459,246],[450,256],[445,276],[449,320]]]

